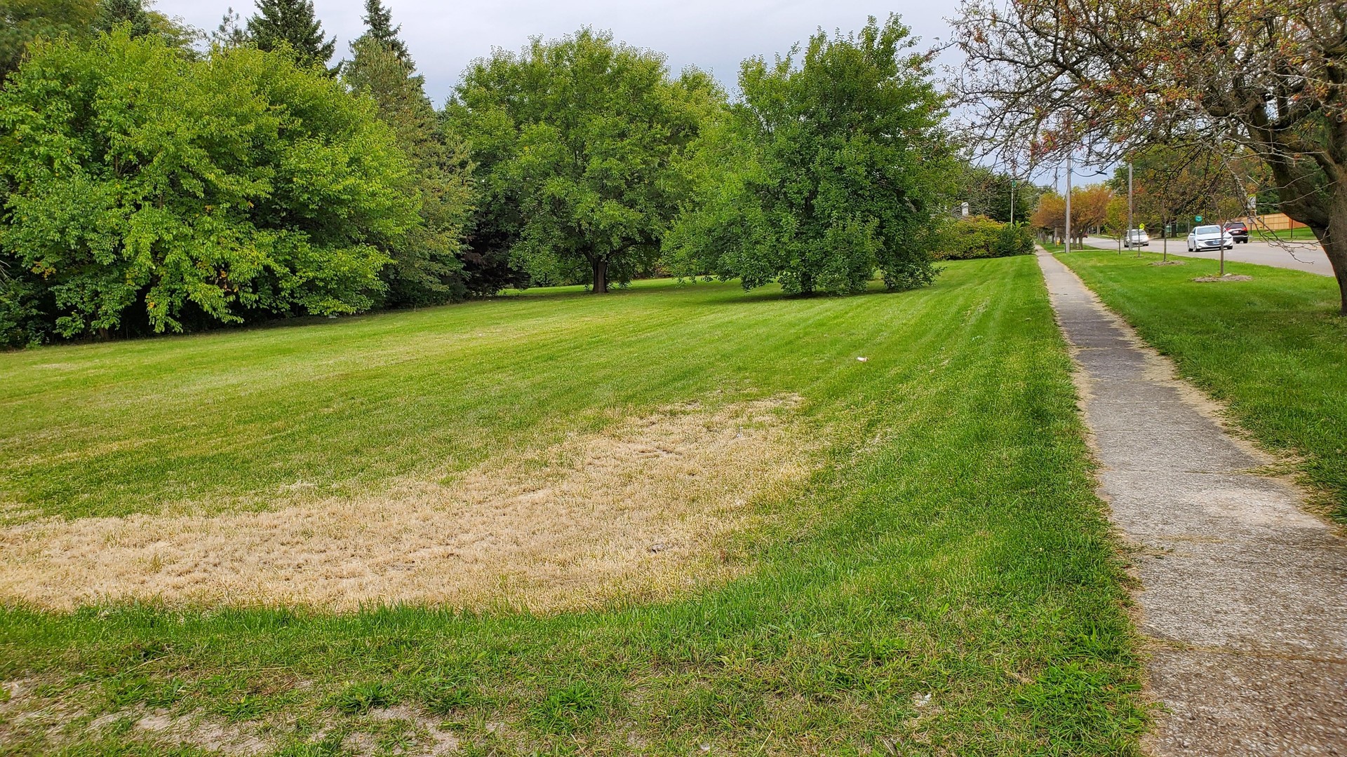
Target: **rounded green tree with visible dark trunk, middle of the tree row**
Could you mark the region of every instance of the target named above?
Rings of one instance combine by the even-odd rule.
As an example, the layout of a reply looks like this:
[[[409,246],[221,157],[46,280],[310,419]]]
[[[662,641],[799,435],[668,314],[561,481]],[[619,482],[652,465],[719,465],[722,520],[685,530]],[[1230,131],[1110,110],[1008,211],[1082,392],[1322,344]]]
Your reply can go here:
[[[474,248],[508,249],[540,283],[630,280],[682,197],[692,100],[663,55],[589,28],[475,61],[449,106],[478,166]]]

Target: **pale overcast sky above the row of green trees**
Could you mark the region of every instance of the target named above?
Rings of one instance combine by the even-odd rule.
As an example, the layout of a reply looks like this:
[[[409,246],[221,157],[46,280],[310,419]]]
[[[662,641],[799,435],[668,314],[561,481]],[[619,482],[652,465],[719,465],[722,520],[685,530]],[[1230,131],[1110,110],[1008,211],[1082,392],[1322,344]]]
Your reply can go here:
[[[245,19],[252,0],[159,0],[155,8],[187,23],[214,30],[229,5]],[[668,55],[676,73],[695,65],[709,69],[733,90],[740,61],[749,55],[784,53],[819,27],[851,31],[866,16],[900,13],[923,46],[948,38],[944,16],[954,1],[876,3],[866,0],[384,0],[401,24],[403,39],[426,75],[426,89],[442,105],[467,63],[489,55],[493,47],[519,50],[531,35],[562,36],[582,26],[612,30],[614,36],[637,47]],[[318,18],[329,35],[337,36],[337,57],[349,54],[348,43],[360,36],[362,0],[317,0]]]

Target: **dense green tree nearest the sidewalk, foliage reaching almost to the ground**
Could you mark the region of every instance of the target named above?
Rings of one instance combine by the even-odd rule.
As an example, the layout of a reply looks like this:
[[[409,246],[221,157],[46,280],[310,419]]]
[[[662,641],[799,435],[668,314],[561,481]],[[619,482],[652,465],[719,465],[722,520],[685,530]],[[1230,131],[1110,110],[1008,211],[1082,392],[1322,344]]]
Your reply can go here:
[[[749,59],[740,89],[665,244],[676,272],[791,294],[861,291],[876,269],[894,290],[933,280],[954,151],[944,98],[896,18],[819,32],[799,62]]]

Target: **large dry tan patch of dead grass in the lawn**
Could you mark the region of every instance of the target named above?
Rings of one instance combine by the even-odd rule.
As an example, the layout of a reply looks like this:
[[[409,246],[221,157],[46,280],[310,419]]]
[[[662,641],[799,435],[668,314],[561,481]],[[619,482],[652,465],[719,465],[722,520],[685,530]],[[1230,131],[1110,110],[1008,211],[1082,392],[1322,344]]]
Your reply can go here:
[[[797,397],[674,405],[447,482],[267,512],[51,519],[0,528],[0,599],[590,606],[738,568],[721,536],[808,470]]]

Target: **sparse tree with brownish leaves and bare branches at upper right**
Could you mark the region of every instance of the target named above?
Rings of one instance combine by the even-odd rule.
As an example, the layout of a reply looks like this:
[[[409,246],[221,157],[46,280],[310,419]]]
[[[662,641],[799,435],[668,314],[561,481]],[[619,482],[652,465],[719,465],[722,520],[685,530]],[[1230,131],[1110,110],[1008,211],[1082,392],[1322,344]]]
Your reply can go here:
[[[956,86],[982,136],[1040,159],[1230,145],[1309,225],[1347,314],[1347,9],[1325,0],[968,0]]]

